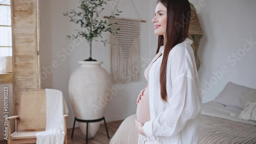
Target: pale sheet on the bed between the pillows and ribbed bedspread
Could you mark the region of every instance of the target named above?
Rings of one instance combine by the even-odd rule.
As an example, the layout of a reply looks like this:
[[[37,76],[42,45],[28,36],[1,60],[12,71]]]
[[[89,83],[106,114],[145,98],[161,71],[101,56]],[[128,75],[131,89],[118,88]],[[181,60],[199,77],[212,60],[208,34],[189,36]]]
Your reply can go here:
[[[250,124],[256,126],[256,121],[238,118],[242,109],[224,106],[222,104],[215,103],[213,101],[202,104],[201,114],[229,119],[234,122]]]

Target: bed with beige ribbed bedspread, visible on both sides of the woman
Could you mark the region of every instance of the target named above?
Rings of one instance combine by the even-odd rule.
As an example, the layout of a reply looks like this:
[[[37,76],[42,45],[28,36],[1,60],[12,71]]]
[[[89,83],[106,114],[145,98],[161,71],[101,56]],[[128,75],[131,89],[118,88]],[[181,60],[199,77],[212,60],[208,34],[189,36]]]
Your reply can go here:
[[[238,118],[241,111],[214,101],[202,104],[199,143],[256,143],[256,121]],[[124,119],[110,144],[137,144],[135,119],[136,114]]]

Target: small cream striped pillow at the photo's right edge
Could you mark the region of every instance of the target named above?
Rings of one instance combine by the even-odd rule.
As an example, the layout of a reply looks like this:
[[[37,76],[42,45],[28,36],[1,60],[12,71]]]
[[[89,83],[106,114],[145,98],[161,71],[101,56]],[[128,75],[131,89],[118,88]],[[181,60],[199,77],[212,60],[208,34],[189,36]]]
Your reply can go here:
[[[248,102],[245,109],[238,116],[239,118],[256,121],[256,102]]]

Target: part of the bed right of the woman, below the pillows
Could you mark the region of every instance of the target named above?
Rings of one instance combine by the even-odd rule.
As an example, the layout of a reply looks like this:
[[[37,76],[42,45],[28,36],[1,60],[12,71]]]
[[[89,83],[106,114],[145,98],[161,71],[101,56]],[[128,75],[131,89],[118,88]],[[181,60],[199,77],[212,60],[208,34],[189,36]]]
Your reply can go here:
[[[256,121],[238,118],[241,111],[213,101],[202,104],[199,143],[256,143]]]

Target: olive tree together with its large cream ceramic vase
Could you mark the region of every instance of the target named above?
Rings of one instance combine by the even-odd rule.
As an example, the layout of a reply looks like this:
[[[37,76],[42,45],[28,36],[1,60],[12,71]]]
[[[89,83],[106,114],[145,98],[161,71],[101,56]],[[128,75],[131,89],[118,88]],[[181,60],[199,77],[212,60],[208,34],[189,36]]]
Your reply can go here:
[[[68,35],[69,39],[85,38],[90,45],[90,58],[79,61],[80,67],[73,71],[69,79],[69,95],[73,111],[78,119],[98,119],[103,117],[105,108],[108,104],[110,95],[111,77],[100,65],[102,61],[92,58],[92,42],[101,41],[109,43],[107,39],[102,38],[102,32],[110,32],[117,34],[119,29],[113,29],[110,19],[119,15],[120,11],[112,12],[109,18],[102,20],[99,14],[103,12],[104,6],[110,0],[81,0],[77,10],[71,10],[63,13],[68,16],[71,22],[79,25],[79,29],[75,30],[75,34]],[[101,38],[101,40],[98,40]],[[86,123],[78,123],[80,130],[86,135]],[[90,123],[88,136],[92,138],[98,128],[100,122]]]

